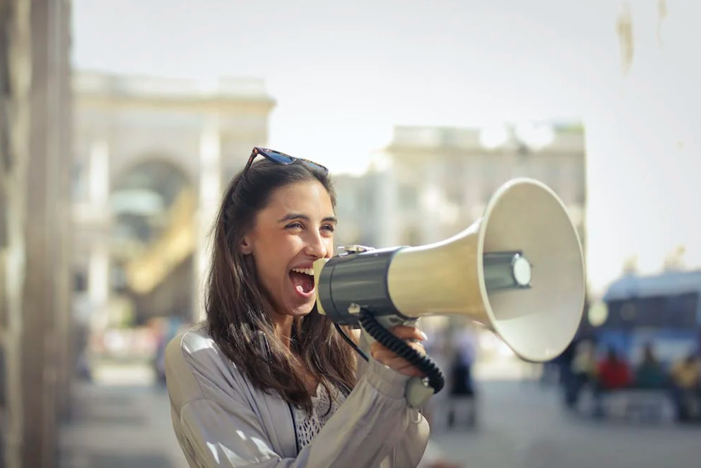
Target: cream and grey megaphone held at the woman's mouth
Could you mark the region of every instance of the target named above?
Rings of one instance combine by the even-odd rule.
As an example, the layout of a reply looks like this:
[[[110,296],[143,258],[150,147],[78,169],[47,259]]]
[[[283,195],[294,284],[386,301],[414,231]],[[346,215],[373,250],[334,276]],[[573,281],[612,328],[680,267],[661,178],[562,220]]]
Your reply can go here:
[[[460,315],[494,331],[526,361],[573,340],[585,301],[582,246],[550,187],[517,178],[450,239],[346,253],[314,262],[317,309],[336,324],[358,313],[414,321]]]

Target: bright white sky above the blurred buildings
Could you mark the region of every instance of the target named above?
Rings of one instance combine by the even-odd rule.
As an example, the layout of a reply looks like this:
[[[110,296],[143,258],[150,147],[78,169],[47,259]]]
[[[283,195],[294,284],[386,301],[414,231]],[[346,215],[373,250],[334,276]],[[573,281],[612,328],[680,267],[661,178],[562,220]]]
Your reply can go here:
[[[631,0],[621,74],[618,0],[74,0],[74,64],[265,79],[271,147],[357,171],[395,125],[583,119],[589,278],[680,243],[701,266],[701,2]]]

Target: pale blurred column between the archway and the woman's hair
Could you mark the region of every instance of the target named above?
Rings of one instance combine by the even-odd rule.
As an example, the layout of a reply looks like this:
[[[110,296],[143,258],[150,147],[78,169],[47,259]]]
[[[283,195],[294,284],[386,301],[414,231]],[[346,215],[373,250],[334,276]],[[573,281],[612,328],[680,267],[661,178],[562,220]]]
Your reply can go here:
[[[195,271],[193,287],[192,321],[204,318],[204,295],[207,288],[207,272],[210,267],[212,223],[214,223],[222,196],[221,175],[222,145],[219,134],[219,116],[207,116],[200,135],[200,180],[195,225]]]

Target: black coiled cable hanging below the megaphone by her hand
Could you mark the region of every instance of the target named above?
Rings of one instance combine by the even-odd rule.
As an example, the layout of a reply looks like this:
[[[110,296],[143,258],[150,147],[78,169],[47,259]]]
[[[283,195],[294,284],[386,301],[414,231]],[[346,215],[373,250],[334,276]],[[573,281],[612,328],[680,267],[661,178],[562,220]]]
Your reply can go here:
[[[365,328],[365,331],[367,331],[370,336],[391,352],[406,359],[409,363],[421,370],[421,372],[425,373],[426,377],[428,377],[428,385],[433,388],[434,394],[441,391],[445,385],[445,376],[433,359],[430,359],[429,356],[422,355],[416,351],[416,349],[407,345],[404,340],[397,338],[387,330],[387,328],[381,326],[377,319],[367,310],[361,309],[358,318],[360,319],[360,325],[362,325],[362,328]]]

